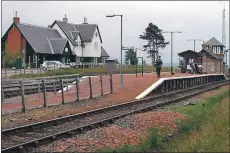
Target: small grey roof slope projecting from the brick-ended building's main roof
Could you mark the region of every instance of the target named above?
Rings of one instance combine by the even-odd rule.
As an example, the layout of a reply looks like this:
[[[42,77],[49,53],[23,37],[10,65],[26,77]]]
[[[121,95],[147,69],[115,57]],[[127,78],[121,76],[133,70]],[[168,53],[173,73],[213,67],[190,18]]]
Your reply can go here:
[[[50,49],[53,54],[62,54],[63,50],[66,46],[67,39],[66,38],[50,38],[48,39],[50,44]]]

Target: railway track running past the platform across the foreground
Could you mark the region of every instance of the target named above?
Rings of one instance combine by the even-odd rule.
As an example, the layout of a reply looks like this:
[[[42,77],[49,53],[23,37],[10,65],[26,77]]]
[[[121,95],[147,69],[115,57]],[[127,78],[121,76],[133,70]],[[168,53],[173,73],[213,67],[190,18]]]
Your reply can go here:
[[[228,83],[229,80],[209,83],[125,104],[5,129],[2,130],[2,152],[23,152],[31,147],[38,147],[42,144],[113,123],[114,120],[126,115],[169,105]]]

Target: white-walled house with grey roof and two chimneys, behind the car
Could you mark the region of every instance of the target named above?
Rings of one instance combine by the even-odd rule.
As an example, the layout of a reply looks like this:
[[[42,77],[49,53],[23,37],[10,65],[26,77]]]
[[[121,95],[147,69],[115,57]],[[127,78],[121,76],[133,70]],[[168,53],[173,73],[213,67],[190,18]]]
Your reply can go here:
[[[72,51],[76,54],[71,61],[105,63],[109,58],[108,53],[102,47],[102,38],[97,24],[88,24],[84,18],[84,23],[68,23],[68,19],[63,21],[55,20],[50,26],[56,29],[63,38],[67,38]]]

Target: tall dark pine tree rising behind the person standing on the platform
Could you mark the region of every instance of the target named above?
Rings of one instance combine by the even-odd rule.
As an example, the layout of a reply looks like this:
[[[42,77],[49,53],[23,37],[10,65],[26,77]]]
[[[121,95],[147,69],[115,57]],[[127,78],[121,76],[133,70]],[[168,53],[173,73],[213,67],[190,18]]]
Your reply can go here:
[[[162,30],[152,23],[149,23],[143,35],[139,36],[139,39],[143,39],[148,42],[143,47],[148,49],[148,58],[152,58],[152,65],[155,63],[155,57],[157,56],[158,58],[159,49],[163,49],[169,44],[169,42],[165,42]]]

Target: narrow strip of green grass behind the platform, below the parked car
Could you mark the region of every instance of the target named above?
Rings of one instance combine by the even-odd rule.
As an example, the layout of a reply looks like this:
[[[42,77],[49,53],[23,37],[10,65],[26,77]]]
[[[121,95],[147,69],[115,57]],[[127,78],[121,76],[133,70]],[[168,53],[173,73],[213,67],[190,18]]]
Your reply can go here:
[[[155,71],[155,68],[148,66],[144,67],[144,73],[145,72],[152,72],[152,70]],[[137,69],[138,73],[141,73],[142,69],[138,67]],[[162,67],[162,72],[169,72],[170,68],[169,67]],[[60,75],[70,75],[70,74],[80,74],[84,75],[87,74],[88,72],[90,73],[106,73],[106,68],[88,68],[88,69],[73,69],[73,68],[67,68],[67,69],[61,69],[61,70],[52,70],[52,71],[46,71],[43,73],[39,74],[16,74],[10,76],[11,79],[17,79],[17,78],[34,78],[34,77],[47,77],[47,76],[60,76]],[[124,68],[123,73],[135,73],[136,68]],[[116,73],[120,73],[120,70],[117,69]]]

